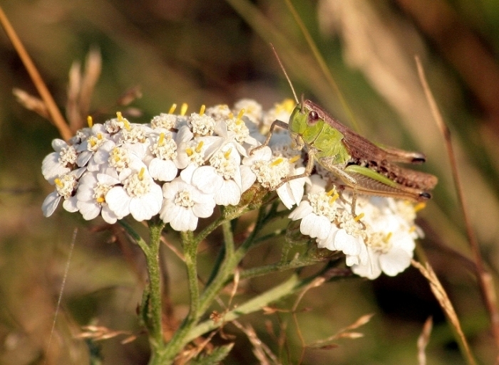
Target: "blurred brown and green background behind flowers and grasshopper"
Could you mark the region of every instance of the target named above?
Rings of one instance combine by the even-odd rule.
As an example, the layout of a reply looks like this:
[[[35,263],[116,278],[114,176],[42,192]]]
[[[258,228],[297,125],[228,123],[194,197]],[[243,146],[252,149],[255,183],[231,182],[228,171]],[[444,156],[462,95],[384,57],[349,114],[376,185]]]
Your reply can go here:
[[[473,275],[463,218],[451,179],[443,137],[418,80],[421,58],[456,144],[458,167],[483,258],[498,282],[499,204],[499,4],[494,0],[294,0],[299,16],[326,61],[337,90],[328,83],[286,3],[281,0],[37,0],[1,1],[6,15],[61,107],[68,71],[84,65],[91,49],[102,56],[93,93],[96,122],[115,114],[125,90],[140,87],[129,105],[133,122],[168,112],[173,102],[229,104],[254,98],[264,108],[292,92],[269,43],[287,68],[298,94],[319,102],[369,139],[424,152],[421,169],[439,178],[434,199],[418,224],[421,242],[456,307],[473,354],[481,364],[497,355],[488,313]],[[83,66],[82,66],[83,67]],[[41,203],[52,191],[41,161],[59,137],[53,125],[22,107],[13,88],[37,95],[9,39],[0,31],[0,363],[146,364],[148,344],[135,309],[145,280],[142,255],[102,221],[83,221],[59,208],[44,218]],[[344,102],[342,102],[342,98]],[[140,115],[138,115],[140,112]],[[48,337],[78,229],[51,348]],[[169,237],[175,243],[175,236]],[[220,243],[207,242],[200,271],[209,273]],[[245,267],[279,257],[279,245]],[[172,317],[182,319],[188,292],[180,260],[163,250]],[[287,273],[251,280],[248,295],[262,292]],[[279,302],[289,308],[292,300]],[[298,314],[305,342],[329,337],[363,314],[365,337],[341,339],[333,349],[307,349],[304,364],[416,364],[416,341],[433,316],[428,344],[431,364],[464,364],[450,327],[421,275],[409,268],[373,282],[350,279],[311,290]],[[276,353],[278,340],[265,322],[287,323],[283,364],[299,358],[297,329],[289,316],[253,314],[259,337]],[[280,321],[280,322],[279,322]],[[78,338],[93,324],[123,331],[112,339]],[[226,364],[258,364],[245,335]],[[135,341],[122,344],[130,335]],[[222,340],[219,340],[223,343]],[[287,354],[289,353],[289,354]],[[291,359],[291,360],[289,360]],[[288,362],[289,361],[289,362]]]

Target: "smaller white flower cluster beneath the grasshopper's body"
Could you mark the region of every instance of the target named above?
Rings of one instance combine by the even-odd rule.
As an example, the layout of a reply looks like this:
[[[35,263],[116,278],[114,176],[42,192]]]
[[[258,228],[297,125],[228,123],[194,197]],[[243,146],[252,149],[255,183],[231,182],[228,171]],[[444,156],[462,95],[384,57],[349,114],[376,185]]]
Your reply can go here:
[[[413,203],[358,195],[354,218],[349,203],[339,198],[336,189],[326,191],[319,174],[311,176],[311,181],[306,199],[289,218],[301,219],[300,231],[317,238],[319,248],[343,252],[346,265],[369,279],[381,272],[395,276],[411,265],[414,240],[423,236],[414,225]]]

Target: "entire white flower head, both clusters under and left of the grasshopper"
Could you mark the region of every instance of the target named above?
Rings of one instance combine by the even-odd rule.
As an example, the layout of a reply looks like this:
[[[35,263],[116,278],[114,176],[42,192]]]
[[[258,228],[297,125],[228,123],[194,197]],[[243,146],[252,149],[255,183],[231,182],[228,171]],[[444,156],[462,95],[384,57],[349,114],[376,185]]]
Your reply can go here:
[[[178,115],[174,105],[144,125],[119,112],[103,125],[91,125],[89,118],[90,127],[68,143],[55,139],[55,152],[43,159],[43,176],[55,186],[43,213],[51,216],[63,200],[66,211],[79,211],[86,220],[101,215],[115,223],[131,215],[145,221],[159,214],[176,231],[194,231],[216,205],[237,205],[255,181],[275,190],[282,179],[305,171],[287,131],[274,131],[268,147],[249,153],[265,138],[259,130],[288,120],[293,107],[285,101],[263,112],[257,102],[241,100],[232,110],[203,106],[187,116],[187,105]],[[319,248],[342,251],[358,275],[374,279],[405,270],[414,240],[422,236],[413,205],[358,196],[354,218],[348,194],[326,191],[327,171],[317,171],[276,190],[288,209],[298,205],[289,218],[302,220],[300,231],[317,238]]]

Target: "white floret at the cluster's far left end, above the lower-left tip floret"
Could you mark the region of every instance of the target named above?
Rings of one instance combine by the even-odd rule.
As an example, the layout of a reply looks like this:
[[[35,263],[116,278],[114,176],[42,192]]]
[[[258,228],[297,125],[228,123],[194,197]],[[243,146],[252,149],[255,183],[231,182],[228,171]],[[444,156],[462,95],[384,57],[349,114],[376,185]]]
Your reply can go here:
[[[48,154],[41,163],[41,173],[51,184],[57,176],[67,174],[76,166],[78,154],[75,147],[68,145],[62,139],[54,139],[52,148],[55,152]]]

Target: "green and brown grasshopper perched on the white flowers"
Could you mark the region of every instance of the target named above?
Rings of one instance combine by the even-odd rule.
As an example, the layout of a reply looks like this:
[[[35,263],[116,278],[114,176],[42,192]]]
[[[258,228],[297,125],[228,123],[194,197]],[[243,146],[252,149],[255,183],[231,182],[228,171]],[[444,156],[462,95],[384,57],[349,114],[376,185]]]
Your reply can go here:
[[[354,216],[356,194],[391,196],[411,201],[426,201],[431,198],[428,191],[437,184],[436,176],[404,169],[396,164],[423,163],[426,161],[424,154],[377,146],[342,125],[311,100],[304,100],[302,96],[302,101],[299,102],[278,56],[277,60],[292,88],[297,106],[289,117],[289,123],[281,120],[272,122],[267,139],[252,152],[267,146],[274,129],[281,127],[289,130],[294,149],[307,147],[309,159],[303,174],[288,176],[276,189],[289,180],[310,176],[314,162],[317,161],[334,174],[334,184],[340,189],[353,191],[351,207]]]

